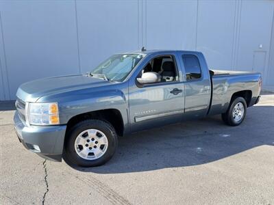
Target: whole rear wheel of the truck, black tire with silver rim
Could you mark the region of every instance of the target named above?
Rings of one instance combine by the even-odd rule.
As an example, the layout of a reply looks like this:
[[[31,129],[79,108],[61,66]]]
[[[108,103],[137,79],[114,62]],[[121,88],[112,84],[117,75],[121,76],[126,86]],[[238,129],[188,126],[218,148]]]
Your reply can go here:
[[[245,101],[245,98],[236,97],[230,103],[227,112],[222,113],[222,120],[229,126],[238,126],[245,120],[246,113],[247,102]]]

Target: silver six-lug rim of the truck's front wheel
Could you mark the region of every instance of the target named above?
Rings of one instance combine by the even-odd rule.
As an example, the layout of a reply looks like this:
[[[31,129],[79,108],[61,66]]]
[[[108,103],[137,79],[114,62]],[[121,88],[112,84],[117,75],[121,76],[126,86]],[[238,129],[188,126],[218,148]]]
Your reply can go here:
[[[108,138],[97,129],[88,129],[76,137],[74,147],[82,159],[99,159],[108,149]]]

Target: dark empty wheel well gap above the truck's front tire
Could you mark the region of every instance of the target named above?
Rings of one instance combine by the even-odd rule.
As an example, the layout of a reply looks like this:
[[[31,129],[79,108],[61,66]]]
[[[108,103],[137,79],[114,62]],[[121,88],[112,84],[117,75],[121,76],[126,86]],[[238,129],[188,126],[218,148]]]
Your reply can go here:
[[[88,119],[108,121],[115,128],[117,135],[123,136],[123,133],[124,133],[123,118],[118,109],[102,109],[99,111],[91,111],[88,113],[82,113],[82,114],[76,115],[73,118],[71,118],[69,122],[67,123],[66,131],[68,131],[69,128],[71,128],[78,122],[82,122],[83,120],[88,120]]]

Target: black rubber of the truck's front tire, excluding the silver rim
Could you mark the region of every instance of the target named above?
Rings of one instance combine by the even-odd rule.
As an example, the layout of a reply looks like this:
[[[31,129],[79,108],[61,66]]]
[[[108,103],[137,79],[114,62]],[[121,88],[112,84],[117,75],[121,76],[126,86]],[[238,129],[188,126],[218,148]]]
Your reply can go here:
[[[99,159],[83,159],[79,156],[75,150],[75,139],[77,136],[86,131],[88,129],[97,129],[105,134],[105,137],[108,139],[108,148],[105,153]],[[68,132],[66,136],[66,140],[64,142],[64,161],[69,165],[78,165],[81,167],[96,167],[99,165],[103,165],[107,161],[109,161],[116,148],[118,146],[118,139],[116,135],[116,131],[113,126],[102,120],[84,120],[75,124]]]

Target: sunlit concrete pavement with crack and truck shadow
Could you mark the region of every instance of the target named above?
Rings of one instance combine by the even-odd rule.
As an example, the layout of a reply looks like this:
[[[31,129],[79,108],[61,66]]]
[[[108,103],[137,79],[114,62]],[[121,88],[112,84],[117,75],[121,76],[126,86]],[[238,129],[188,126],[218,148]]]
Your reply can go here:
[[[114,158],[84,169],[19,143],[0,105],[0,204],[274,204],[274,95],[245,122],[183,122],[121,138]]]

